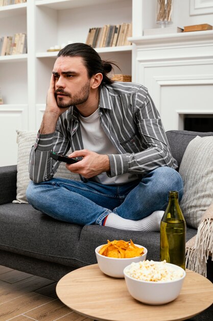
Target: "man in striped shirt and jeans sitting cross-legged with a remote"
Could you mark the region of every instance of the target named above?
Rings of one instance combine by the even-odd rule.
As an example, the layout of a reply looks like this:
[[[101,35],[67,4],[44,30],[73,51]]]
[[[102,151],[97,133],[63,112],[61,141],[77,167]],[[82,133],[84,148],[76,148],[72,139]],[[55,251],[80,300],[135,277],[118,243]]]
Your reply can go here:
[[[159,114],[141,85],[113,83],[110,63],[76,43],[56,59],[46,109],[30,157],[27,198],[65,222],[157,231],[170,190],[182,179]],[[82,180],[54,178],[50,152],[78,157],[67,170]]]

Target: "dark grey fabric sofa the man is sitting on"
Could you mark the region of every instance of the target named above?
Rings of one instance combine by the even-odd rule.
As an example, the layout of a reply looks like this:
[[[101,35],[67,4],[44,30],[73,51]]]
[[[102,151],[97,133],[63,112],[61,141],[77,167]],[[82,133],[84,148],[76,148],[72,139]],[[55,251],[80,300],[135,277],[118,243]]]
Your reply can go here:
[[[213,133],[169,131],[173,156],[180,165],[184,150],[196,135]],[[0,264],[23,272],[59,280],[64,274],[97,263],[94,249],[107,239],[130,238],[148,249],[147,259],[159,260],[159,233],[125,231],[99,225],[78,226],[52,219],[29,204],[13,204],[16,198],[16,166],[0,168]],[[70,203],[72,206],[72,203]],[[187,227],[187,240],[197,230]],[[207,277],[213,279],[213,265]],[[211,320],[212,306],[193,318]]]

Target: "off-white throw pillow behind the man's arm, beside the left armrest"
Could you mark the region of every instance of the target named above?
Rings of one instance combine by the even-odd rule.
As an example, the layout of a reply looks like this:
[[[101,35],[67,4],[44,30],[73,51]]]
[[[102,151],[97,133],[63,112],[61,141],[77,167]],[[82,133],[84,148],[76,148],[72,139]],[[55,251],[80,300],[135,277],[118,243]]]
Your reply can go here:
[[[16,199],[13,200],[13,203],[28,204],[26,198],[26,189],[30,182],[29,159],[31,148],[36,140],[37,131],[16,130],[16,132],[18,143],[17,190]],[[54,177],[80,180],[78,174],[71,173],[66,169],[65,163],[61,163],[59,165],[59,168]]]

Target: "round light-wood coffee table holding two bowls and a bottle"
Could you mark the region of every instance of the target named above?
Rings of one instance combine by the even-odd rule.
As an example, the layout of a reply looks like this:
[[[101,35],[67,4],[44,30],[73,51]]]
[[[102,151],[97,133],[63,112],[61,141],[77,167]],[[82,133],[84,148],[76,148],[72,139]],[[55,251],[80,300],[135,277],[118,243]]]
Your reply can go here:
[[[165,305],[138,302],[125,279],[105,275],[98,264],[74,270],[57,284],[60,300],[69,308],[99,321],[171,321],[190,318],[213,303],[213,285],[204,276],[186,270],[180,295]]]

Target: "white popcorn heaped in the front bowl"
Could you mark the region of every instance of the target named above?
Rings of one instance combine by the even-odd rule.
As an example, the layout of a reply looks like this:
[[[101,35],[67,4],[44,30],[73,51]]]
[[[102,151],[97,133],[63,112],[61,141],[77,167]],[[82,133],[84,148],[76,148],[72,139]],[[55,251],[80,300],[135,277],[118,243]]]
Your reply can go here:
[[[138,263],[131,263],[126,273],[133,278],[148,282],[174,281],[184,274],[183,270],[168,266],[165,260],[162,262],[144,260]]]

